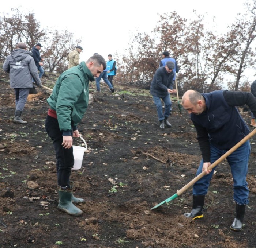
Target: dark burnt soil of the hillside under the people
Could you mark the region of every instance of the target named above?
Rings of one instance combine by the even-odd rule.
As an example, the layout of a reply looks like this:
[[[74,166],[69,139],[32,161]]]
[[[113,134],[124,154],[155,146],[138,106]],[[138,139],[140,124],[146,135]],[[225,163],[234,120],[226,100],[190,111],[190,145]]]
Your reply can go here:
[[[204,218],[183,216],[191,210],[191,188],[150,211],[195,177],[200,161],[195,128],[175,100],[173,126],[160,130],[148,90],[117,86],[111,94],[102,85],[79,125],[88,151],[71,179],[75,196],[86,202],[78,205],[83,215],[73,217],[57,209],[55,153],[44,129],[49,91],[29,96],[23,113],[28,123],[21,125],[12,122],[15,101],[5,73],[0,90],[1,248],[256,247],[256,137],[251,139],[250,202],[241,232],[230,230],[235,204],[225,161],[211,181]],[[249,124],[249,112],[241,114]],[[74,145],[82,143],[74,140]]]

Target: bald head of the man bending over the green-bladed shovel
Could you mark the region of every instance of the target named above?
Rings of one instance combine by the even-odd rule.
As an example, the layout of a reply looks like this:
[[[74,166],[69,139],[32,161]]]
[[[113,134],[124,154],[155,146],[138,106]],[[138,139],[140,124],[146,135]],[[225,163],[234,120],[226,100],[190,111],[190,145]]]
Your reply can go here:
[[[187,90],[182,96],[181,102],[183,108],[186,109],[189,114],[200,115],[206,110],[204,97],[196,90]]]

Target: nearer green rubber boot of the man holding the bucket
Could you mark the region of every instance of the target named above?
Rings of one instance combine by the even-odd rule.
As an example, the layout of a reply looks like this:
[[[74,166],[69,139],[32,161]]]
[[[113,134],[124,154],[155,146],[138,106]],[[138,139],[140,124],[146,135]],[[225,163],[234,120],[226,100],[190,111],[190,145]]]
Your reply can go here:
[[[79,216],[83,213],[83,211],[79,208],[77,208],[73,202],[71,201],[72,198],[72,189],[63,189],[59,188],[58,194],[59,194],[59,204],[58,208],[70,215],[73,216]]]

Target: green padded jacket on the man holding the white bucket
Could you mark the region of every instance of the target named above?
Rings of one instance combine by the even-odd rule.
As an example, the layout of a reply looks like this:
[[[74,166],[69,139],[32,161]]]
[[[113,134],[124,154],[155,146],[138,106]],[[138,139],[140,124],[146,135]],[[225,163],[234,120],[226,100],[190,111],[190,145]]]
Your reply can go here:
[[[57,113],[60,131],[71,131],[82,120],[89,101],[89,81],[93,80],[84,61],[57,79],[47,102]]]

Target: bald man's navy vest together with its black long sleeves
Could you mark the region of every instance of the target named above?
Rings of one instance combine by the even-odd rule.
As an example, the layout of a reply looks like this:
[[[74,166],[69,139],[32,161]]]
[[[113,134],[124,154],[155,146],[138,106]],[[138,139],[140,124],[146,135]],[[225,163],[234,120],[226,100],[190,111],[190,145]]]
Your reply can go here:
[[[202,94],[207,109],[191,114],[197,131],[203,161],[210,162],[210,143],[220,150],[229,150],[250,132],[236,106],[247,104],[256,114],[256,100],[251,92],[217,90]]]

